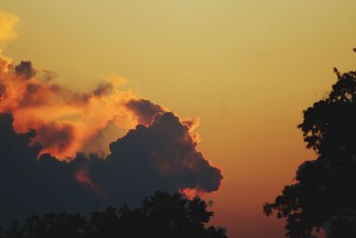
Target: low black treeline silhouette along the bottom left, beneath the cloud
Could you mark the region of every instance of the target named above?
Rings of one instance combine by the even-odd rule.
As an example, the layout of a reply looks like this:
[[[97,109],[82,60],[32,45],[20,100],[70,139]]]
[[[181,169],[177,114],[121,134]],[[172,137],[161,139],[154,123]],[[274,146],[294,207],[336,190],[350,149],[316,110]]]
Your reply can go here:
[[[53,212],[28,216],[0,229],[0,238],[227,238],[223,228],[206,227],[214,215],[206,208],[206,201],[198,197],[157,192],[136,209],[109,207],[89,217]]]

